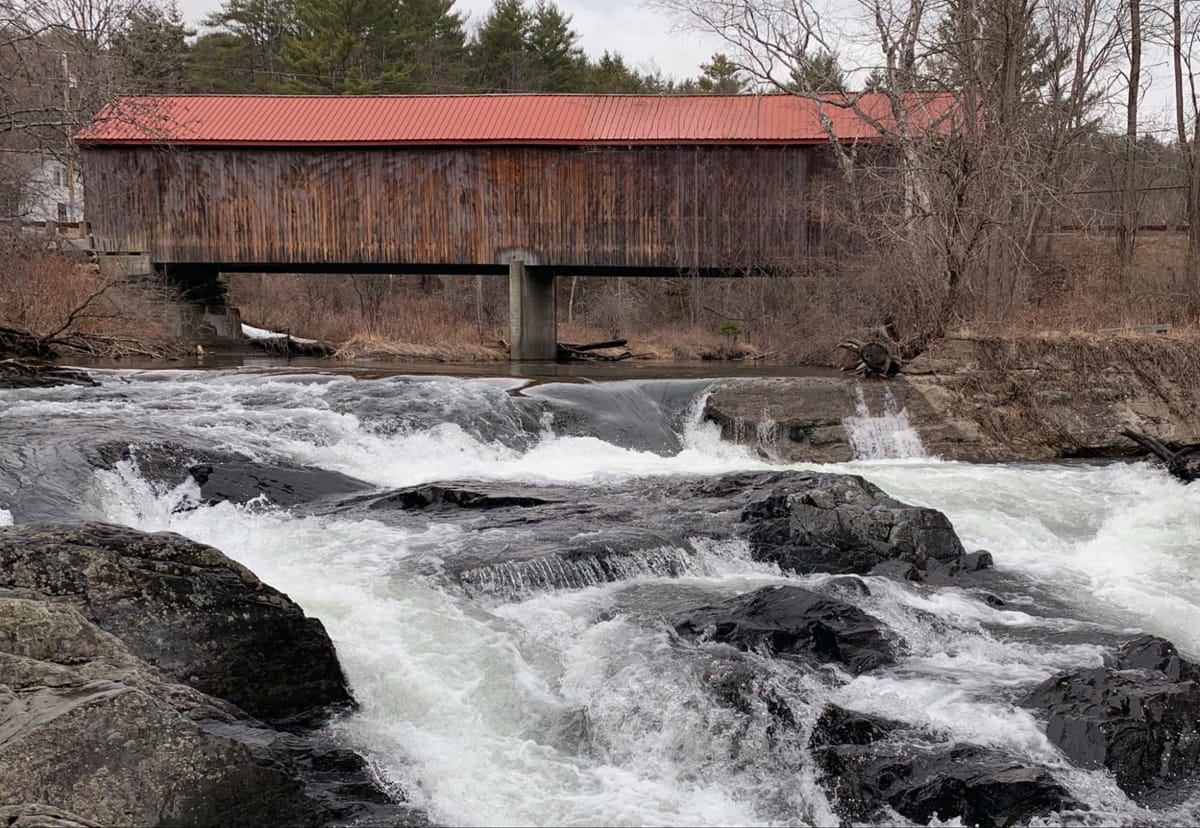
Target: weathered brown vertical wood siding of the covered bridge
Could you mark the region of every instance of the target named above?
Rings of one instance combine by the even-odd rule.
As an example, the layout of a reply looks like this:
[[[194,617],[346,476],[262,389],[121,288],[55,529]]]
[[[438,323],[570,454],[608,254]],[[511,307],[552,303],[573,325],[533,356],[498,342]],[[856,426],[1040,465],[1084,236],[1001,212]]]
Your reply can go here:
[[[754,268],[805,252],[803,146],[86,148],[88,221],[156,262]]]

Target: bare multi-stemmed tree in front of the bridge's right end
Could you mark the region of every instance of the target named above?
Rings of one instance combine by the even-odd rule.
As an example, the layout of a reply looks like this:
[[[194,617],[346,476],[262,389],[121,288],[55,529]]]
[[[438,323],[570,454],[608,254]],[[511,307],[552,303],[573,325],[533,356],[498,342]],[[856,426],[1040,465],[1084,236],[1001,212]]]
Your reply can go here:
[[[816,2],[652,0],[724,38],[760,91],[814,101],[857,199],[847,212],[866,217],[858,236],[881,262],[925,271],[911,284],[930,311],[917,336],[1006,312],[1068,150],[1096,128],[1116,0],[858,0],[866,23],[840,30]],[[848,85],[871,91],[796,82],[830,54],[851,55]],[[862,145],[838,134],[838,110],[886,152],[864,163]]]

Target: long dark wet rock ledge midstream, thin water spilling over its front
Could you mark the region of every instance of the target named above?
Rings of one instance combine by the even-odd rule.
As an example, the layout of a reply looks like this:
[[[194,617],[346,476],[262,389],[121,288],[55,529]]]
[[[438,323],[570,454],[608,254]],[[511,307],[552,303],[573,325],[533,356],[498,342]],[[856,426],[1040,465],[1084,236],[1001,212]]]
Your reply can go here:
[[[756,472],[653,478],[605,486],[446,481],[330,500],[404,528],[464,529],[436,551],[440,571],[476,594],[520,598],[637,575],[677,576],[710,542],[802,572],[866,574],[961,557],[946,517],[895,500],[862,478]],[[498,532],[499,530],[499,532]],[[742,552],[737,552],[742,553]]]

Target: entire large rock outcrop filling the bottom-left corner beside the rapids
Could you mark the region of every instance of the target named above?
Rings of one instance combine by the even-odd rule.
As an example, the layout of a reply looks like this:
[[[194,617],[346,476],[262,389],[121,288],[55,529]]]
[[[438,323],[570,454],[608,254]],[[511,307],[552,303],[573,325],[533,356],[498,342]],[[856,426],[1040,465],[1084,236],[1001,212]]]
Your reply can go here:
[[[421,824],[312,728],[352,703],[320,623],[217,550],[0,528],[2,824]]]

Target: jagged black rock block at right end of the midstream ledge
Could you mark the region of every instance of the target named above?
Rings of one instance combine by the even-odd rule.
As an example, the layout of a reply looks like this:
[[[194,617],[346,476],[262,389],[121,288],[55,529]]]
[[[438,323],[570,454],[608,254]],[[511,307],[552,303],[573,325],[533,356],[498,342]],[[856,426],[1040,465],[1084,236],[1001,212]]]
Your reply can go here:
[[[742,510],[751,553],[782,569],[863,575],[884,560],[920,569],[964,554],[946,515],[900,503],[859,476],[748,475],[745,482],[755,486]]]

